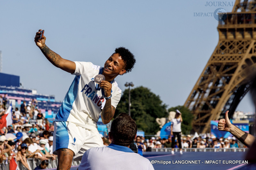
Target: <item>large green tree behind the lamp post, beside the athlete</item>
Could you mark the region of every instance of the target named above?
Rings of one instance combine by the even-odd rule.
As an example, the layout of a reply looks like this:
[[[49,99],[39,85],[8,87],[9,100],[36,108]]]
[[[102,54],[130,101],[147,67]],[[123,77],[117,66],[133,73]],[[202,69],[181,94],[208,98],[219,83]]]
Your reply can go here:
[[[122,112],[128,114],[129,90],[125,89],[120,102],[116,107],[115,117]],[[157,117],[167,117],[167,105],[163,104],[160,97],[145,87],[131,89],[131,117],[136,121],[138,130],[145,134],[156,134],[159,125],[156,123]]]

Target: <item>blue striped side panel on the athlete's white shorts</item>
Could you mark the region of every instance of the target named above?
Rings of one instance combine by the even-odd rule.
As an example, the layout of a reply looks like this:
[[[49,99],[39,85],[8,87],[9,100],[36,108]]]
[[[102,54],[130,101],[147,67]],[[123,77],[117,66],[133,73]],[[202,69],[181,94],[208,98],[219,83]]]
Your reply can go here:
[[[60,148],[68,148],[69,136],[66,122],[57,123],[56,151]]]

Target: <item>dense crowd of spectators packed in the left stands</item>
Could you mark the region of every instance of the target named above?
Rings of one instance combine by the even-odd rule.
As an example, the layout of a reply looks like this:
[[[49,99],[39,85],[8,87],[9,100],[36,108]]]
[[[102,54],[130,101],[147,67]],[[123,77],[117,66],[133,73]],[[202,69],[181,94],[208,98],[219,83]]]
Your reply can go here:
[[[0,116],[8,106],[8,100],[0,97]],[[5,102],[6,101],[6,102]],[[9,163],[12,158],[30,169],[27,159],[35,158],[48,165],[48,160],[56,160],[52,154],[53,125],[44,118],[37,108],[36,100],[24,101],[20,110],[12,111],[12,124],[0,129],[0,162]],[[40,167],[37,167],[37,169]]]

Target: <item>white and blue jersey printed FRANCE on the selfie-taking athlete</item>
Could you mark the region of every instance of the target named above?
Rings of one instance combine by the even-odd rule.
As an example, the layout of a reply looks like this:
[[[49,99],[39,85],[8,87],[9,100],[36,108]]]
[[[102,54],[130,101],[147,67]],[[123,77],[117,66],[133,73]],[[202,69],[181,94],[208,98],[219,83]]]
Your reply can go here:
[[[94,82],[94,77],[97,74],[102,74],[103,67],[93,65],[91,62],[75,61],[75,63],[76,70],[73,75],[76,77],[70,85],[54,121],[73,122],[83,128],[95,130],[97,129],[96,122],[106,100],[104,89]],[[111,105],[116,108],[122,91],[118,88],[115,80],[111,81],[111,84]]]

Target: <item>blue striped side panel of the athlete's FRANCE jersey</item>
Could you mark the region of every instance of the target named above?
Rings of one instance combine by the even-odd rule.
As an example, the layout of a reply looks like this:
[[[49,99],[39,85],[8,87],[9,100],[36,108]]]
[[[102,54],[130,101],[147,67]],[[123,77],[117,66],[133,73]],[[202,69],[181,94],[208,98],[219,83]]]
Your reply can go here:
[[[68,120],[70,110],[72,109],[72,105],[77,96],[78,83],[79,83],[80,77],[81,77],[81,75],[76,75],[75,79],[73,80],[72,84],[70,85],[70,87],[68,89],[68,93],[66,94],[54,121],[67,121]]]

